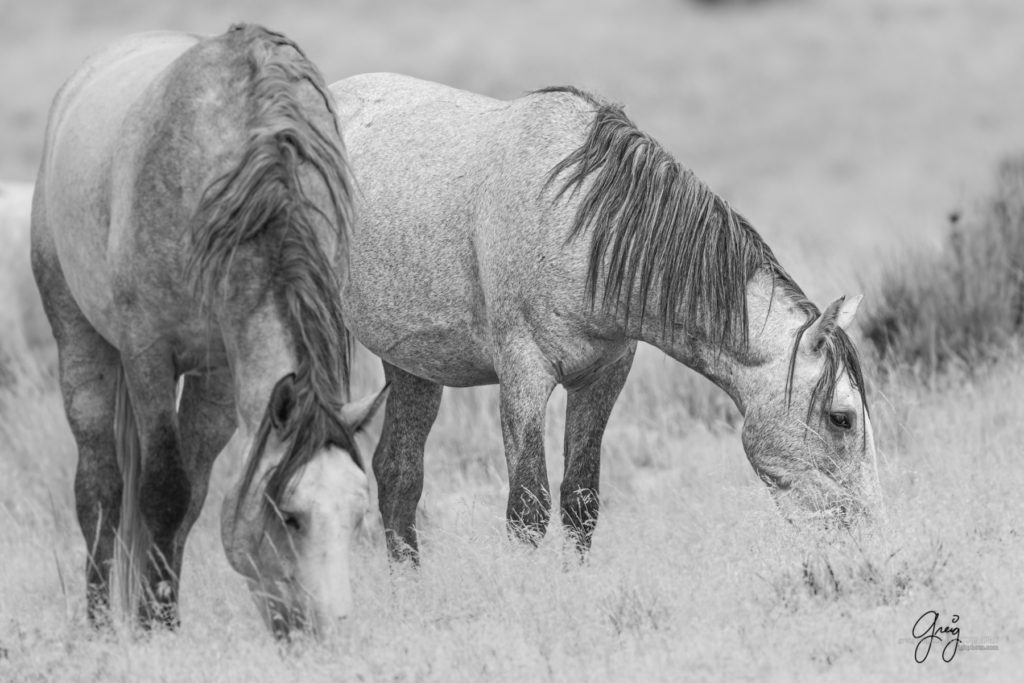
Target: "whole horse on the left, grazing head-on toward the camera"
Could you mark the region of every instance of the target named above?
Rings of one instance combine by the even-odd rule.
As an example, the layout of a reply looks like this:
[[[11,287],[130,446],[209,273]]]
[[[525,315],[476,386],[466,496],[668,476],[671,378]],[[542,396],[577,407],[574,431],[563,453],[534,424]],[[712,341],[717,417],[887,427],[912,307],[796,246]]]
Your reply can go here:
[[[32,265],[78,444],[94,624],[119,549],[129,613],[178,623],[222,451],[247,454],[224,548],[270,629],[324,633],[349,612],[368,501],[353,434],[382,400],[344,402],[351,193],[323,77],[262,28],[133,35],[57,93]]]

